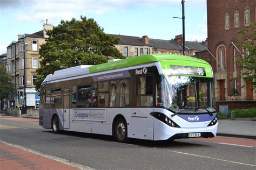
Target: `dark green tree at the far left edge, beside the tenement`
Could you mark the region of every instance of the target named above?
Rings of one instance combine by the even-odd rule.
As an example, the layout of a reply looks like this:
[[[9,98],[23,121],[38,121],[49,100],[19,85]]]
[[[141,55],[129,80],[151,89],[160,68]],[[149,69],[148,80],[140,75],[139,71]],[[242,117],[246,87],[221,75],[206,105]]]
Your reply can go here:
[[[0,80],[0,100],[8,98],[9,94],[15,94],[12,77],[3,67],[0,67]]]

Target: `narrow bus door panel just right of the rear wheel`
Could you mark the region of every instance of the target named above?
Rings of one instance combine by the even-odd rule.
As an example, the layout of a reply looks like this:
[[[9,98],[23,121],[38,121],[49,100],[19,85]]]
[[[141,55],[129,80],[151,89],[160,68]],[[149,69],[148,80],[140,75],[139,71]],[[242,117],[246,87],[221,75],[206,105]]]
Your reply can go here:
[[[63,94],[63,128],[69,129],[70,119],[70,87],[64,87]]]

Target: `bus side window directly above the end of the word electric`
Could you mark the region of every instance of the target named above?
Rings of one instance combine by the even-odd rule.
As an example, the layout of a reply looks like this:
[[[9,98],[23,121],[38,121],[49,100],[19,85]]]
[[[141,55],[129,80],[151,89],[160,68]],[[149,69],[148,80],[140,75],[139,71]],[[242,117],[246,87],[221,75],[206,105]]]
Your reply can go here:
[[[109,106],[109,82],[98,82],[98,107]]]

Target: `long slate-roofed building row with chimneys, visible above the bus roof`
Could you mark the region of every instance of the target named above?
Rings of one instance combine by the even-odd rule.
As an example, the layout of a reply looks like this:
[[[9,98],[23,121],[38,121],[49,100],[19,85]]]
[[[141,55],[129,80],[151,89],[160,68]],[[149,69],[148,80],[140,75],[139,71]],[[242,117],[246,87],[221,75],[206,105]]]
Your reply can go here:
[[[117,49],[126,57],[139,56],[153,53],[183,54],[183,36],[178,35],[175,39],[161,40],[147,36],[133,37],[111,34],[119,38]],[[186,41],[186,55],[193,56],[196,52],[206,51],[207,42]]]

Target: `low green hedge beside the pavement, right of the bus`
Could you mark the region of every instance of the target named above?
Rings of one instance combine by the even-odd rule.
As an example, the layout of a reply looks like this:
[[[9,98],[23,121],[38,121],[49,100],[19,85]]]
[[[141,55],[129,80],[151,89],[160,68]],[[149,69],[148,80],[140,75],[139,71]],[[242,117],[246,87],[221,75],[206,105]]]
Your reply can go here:
[[[221,112],[218,112],[217,117],[219,119],[221,118],[231,118],[231,112],[235,113],[235,118],[245,118],[245,117],[256,117],[256,108],[250,108],[250,109],[233,109],[228,112],[227,115],[221,114]]]

